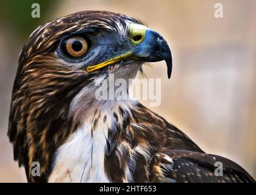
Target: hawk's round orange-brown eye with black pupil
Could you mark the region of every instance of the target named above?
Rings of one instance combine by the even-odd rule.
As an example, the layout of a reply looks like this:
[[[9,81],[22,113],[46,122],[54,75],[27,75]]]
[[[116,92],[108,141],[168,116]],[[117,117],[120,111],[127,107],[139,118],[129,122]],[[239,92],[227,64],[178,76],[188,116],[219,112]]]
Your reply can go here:
[[[72,57],[81,57],[88,49],[88,43],[83,37],[74,36],[63,41],[63,50]]]

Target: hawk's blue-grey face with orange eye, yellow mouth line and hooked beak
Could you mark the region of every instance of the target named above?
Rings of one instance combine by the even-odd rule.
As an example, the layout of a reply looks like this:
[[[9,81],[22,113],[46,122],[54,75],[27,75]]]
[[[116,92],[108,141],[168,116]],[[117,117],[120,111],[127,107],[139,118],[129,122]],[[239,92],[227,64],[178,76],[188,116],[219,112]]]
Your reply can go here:
[[[161,35],[127,16],[104,16],[109,18],[62,34],[55,54],[66,64],[101,77],[116,71],[129,75],[144,62],[166,60],[171,76],[171,52]]]

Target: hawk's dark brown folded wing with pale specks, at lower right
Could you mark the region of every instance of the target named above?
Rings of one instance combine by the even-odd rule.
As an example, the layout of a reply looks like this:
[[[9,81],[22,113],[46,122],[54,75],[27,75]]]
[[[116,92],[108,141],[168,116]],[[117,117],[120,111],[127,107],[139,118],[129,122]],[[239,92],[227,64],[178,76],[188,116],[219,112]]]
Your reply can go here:
[[[151,168],[157,166],[162,170],[163,182],[255,182],[241,166],[218,155],[169,150],[155,155],[152,162]]]

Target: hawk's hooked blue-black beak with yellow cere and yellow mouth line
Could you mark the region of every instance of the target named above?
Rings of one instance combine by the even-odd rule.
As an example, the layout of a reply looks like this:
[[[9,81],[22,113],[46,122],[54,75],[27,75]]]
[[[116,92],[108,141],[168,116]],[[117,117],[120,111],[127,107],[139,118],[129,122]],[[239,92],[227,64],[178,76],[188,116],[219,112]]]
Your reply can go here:
[[[129,24],[130,41],[135,44],[133,51],[118,55],[98,65],[87,67],[87,72],[110,65],[123,59],[136,58],[142,62],[159,62],[165,60],[168,79],[172,72],[172,55],[166,40],[154,30],[140,24]]]

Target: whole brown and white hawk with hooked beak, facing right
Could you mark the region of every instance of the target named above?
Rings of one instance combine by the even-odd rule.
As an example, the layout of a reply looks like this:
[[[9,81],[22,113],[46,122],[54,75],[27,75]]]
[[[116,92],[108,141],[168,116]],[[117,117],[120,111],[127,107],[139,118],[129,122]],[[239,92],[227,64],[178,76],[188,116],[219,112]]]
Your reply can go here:
[[[96,98],[110,74],[132,79],[161,60],[170,77],[166,40],[126,15],[85,11],[38,27],[20,54],[8,131],[28,182],[255,182],[137,100]]]

